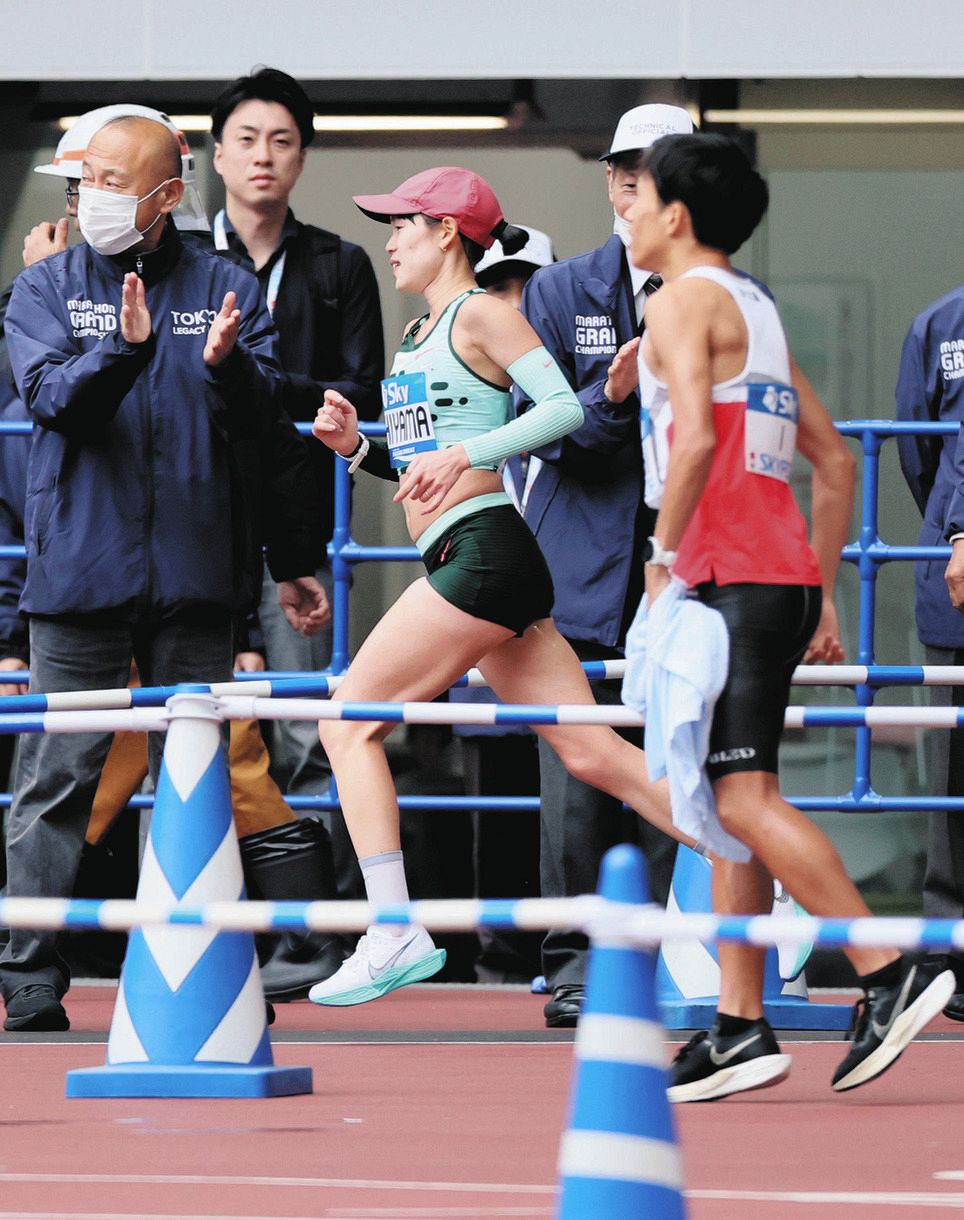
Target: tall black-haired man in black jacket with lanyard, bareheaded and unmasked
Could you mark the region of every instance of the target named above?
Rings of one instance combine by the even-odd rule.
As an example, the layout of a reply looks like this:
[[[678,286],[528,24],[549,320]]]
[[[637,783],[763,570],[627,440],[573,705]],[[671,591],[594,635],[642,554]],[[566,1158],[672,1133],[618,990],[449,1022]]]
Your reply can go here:
[[[257,276],[279,336],[282,403],[295,421],[312,421],[326,389],[337,389],[364,420],[381,411],[384,372],[378,288],[369,256],[336,233],[295,220],[290,193],[314,139],[314,109],[301,85],[286,72],[260,68],[232,81],[211,112],[215,170],[225,182],[225,209],[214,222],[215,245]],[[332,537],[334,459],[314,437],[304,439],[322,499],[321,537]],[[331,589],[327,564],[318,580]],[[261,630],[268,669],[325,670],[331,634],[293,636],[277,611],[270,577],[261,601]],[[288,764],[288,792],[310,795],[331,778],[315,726],[279,726]],[[354,877],[355,856],[339,817],[333,827],[343,895]],[[358,892],[351,894],[358,897]]]

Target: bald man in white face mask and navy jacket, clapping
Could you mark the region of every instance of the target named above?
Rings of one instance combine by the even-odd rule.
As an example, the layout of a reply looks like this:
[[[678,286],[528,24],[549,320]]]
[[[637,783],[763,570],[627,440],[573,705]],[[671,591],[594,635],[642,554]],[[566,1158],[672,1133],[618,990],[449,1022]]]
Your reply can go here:
[[[327,616],[270,316],[253,277],[182,244],[168,220],[179,174],[165,127],[109,123],[84,161],[84,244],[13,285],[5,331],[37,425],[21,599],[35,691],[124,686],[132,659],[149,683],[229,678],[262,543],[292,626],[311,632]],[[10,895],[71,893],[109,744],[24,741]],[[155,772],[161,745],[151,742]],[[55,935],[15,931],[0,959],[5,1028],[66,1028],[68,981]]]

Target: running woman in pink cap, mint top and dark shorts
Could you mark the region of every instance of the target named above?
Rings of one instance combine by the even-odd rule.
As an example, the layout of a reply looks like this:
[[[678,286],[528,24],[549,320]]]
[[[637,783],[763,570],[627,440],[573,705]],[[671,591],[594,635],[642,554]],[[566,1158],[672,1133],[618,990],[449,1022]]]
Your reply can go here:
[[[428,312],[405,331],[382,383],[387,445],[359,433],[354,407],[328,390],[314,433],[348,461],[398,478],[427,575],[411,584],[360,648],[334,698],[433,699],[478,665],[509,703],[592,704],[580,664],[552,619],[553,587],[532,533],[511,506],[500,464],[572,431],[582,407],[528,322],[481,290],[472,272],[499,239],[506,254],[527,234],[506,226],[488,183],[458,167],[427,170],[388,195],[355,196],[390,224],[395,287],[421,293]],[[511,418],[515,382],[533,406]],[[398,803],[382,742],[390,726],[322,721],[321,741],[369,900],[408,902]],[[539,726],[581,780],[626,800],[671,832],[642,752],[604,726]],[[688,841],[692,842],[692,841]],[[318,1004],[359,1004],[436,974],[444,952],[425,928],[370,927],[355,954],[316,985]]]

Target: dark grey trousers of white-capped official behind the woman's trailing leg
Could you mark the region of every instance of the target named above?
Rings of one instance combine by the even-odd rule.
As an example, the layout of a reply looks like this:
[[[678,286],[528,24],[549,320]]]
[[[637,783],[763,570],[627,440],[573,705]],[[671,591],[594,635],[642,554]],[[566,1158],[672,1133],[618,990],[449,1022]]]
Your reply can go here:
[[[619,656],[614,649],[570,640],[581,661]],[[599,704],[617,704],[619,682],[593,682]],[[639,730],[620,736],[642,745]],[[599,865],[616,843],[636,843],[649,863],[653,897],[665,903],[676,858],[676,843],[643,821],[638,814],[598,788],[574,780],[559,755],[539,738],[539,878],[543,898],[571,898],[594,893]],[[588,941],[582,932],[554,928],[542,944],[542,966],[550,988],[582,983]]]

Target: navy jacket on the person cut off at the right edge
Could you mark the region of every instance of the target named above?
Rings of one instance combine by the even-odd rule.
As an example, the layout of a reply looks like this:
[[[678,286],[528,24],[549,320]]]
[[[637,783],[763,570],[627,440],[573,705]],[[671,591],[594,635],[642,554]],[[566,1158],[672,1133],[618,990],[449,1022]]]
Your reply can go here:
[[[923,311],[904,339],[897,378],[897,418],[964,420],[964,288]],[[901,468],[924,517],[919,542],[940,547],[964,531],[964,450],[958,437],[898,437]],[[957,522],[957,523],[955,523]],[[944,560],[916,565],[916,622],[924,644],[964,648],[964,614],[954,610]]]

